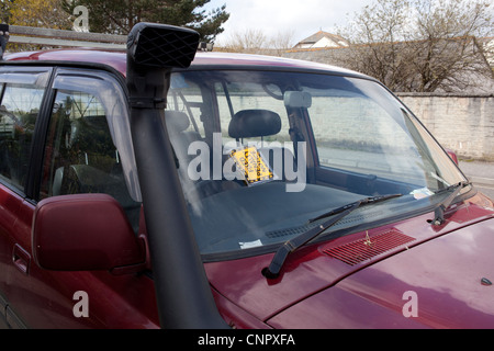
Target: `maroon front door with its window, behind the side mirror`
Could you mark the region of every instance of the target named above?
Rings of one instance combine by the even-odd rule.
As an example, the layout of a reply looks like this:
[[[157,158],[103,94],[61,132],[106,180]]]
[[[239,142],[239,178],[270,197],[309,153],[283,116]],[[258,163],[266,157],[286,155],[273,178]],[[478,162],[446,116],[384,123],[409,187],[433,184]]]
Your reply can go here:
[[[108,123],[126,113],[122,89],[112,75],[98,70],[54,69],[52,77],[37,109],[42,113],[30,155],[27,194],[10,194],[2,188],[2,204],[5,193],[14,199],[8,201],[11,210],[1,224],[5,318],[12,320],[11,327],[32,328],[156,326],[154,284],[145,272],[58,272],[33,260],[33,214],[37,202],[50,196],[110,194],[139,234],[141,203],[127,191],[122,165],[130,156],[127,150],[119,152]],[[125,138],[125,132],[116,133]],[[13,224],[9,225],[8,214]]]

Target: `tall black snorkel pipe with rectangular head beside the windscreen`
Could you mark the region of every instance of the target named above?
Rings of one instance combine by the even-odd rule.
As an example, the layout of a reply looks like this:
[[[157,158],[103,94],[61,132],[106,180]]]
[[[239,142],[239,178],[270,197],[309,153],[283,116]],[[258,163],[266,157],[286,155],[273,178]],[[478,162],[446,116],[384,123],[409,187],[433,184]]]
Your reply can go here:
[[[195,242],[164,123],[172,67],[189,67],[194,31],[138,23],[128,34],[131,128],[161,328],[217,329],[220,316]]]

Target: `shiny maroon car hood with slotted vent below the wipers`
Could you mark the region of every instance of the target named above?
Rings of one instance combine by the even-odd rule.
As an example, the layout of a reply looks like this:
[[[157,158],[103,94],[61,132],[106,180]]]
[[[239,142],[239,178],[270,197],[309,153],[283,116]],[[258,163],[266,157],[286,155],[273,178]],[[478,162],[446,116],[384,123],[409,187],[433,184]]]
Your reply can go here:
[[[273,328],[494,328],[493,210],[463,204],[439,228],[430,217],[307,247],[277,280],[261,274],[272,254],[209,263],[206,273],[229,305]],[[389,233],[413,241],[356,264],[327,254]]]

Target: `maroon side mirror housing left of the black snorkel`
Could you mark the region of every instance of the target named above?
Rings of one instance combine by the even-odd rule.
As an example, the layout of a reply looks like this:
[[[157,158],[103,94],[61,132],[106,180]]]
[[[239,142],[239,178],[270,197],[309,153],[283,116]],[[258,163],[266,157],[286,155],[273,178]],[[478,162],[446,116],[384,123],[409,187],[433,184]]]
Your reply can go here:
[[[132,271],[146,261],[120,204],[106,194],[54,196],[34,212],[35,262],[57,271]]]

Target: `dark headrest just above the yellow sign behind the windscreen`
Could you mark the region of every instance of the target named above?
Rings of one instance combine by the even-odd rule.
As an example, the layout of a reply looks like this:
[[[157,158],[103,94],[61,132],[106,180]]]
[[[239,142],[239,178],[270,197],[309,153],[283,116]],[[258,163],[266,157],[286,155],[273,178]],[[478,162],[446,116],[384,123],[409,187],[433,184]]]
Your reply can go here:
[[[280,115],[268,110],[239,111],[228,126],[229,136],[236,139],[274,135],[280,131]]]

